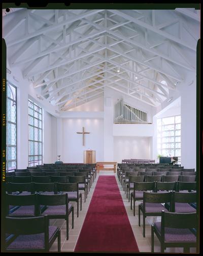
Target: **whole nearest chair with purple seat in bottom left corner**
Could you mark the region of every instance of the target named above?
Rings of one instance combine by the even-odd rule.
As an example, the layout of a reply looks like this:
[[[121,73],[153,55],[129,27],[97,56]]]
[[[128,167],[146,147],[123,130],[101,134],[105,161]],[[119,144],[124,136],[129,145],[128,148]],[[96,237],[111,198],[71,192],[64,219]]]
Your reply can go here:
[[[6,236],[4,252],[49,252],[56,238],[60,252],[60,229],[49,226],[47,216],[6,217],[5,233],[13,236]]]

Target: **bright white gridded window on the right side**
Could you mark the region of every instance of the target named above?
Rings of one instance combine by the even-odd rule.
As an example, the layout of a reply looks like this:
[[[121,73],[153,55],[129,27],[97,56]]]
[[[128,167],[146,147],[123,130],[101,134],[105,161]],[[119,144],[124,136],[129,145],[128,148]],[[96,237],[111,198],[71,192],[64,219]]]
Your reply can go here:
[[[163,157],[178,157],[181,163],[181,116],[157,119],[157,153]]]

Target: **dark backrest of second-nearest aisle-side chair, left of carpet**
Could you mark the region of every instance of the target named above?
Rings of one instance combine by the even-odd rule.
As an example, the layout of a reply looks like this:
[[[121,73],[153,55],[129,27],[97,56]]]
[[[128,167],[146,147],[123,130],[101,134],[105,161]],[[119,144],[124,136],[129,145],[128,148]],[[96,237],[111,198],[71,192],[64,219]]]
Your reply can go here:
[[[62,206],[68,205],[67,194],[57,194],[57,195],[44,195],[38,194],[38,204],[43,206]]]

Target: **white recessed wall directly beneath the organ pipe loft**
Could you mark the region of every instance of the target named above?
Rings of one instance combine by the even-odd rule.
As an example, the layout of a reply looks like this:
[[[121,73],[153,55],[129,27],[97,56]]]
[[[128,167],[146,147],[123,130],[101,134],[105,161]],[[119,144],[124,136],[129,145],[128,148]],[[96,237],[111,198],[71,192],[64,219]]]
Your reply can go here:
[[[122,159],[151,159],[150,137],[114,137],[114,161],[121,163]]]

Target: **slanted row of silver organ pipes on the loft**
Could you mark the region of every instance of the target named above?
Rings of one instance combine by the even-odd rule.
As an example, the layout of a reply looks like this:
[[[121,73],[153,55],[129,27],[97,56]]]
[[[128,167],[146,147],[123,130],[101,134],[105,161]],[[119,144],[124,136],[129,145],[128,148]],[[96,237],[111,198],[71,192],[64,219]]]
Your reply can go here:
[[[148,115],[124,103],[121,98],[114,106],[114,123],[148,123]]]

